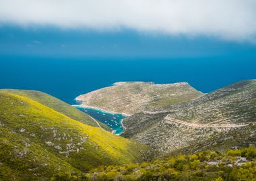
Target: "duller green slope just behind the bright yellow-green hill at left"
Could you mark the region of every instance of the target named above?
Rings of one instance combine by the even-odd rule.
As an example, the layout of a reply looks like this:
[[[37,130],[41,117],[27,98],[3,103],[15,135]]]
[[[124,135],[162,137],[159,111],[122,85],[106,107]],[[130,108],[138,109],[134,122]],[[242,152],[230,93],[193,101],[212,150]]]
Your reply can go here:
[[[83,113],[82,111],[79,111],[74,107],[71,107],[71,105],[55,97],[52,97],[51,95],[48,95],[46,93],[42,93],[40,91],[27,91],[15,89],[0,89],[0,93],[11,93],[13,95],[28,97],[34,101],[37,101],[38,103],[41,103],[43,105],[46,105],[47,107],[50,107],[51,109],[54,109],[55,111],[58,111],[59,113],[62,113],[63,115],[71,117],[72,119],[82,121],[83,123],[92,125],[94,127],[98,127],[98,124],[94,120],[92,120],[92,118],[90,118],[88,115],[86,115],[86,113]],[[98,121],[98,123],[100,123],[100,121]],[[103,123],[100,123],[100,126],[108,131],[111,131],[111,129]]]

